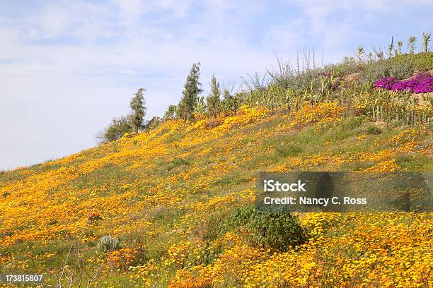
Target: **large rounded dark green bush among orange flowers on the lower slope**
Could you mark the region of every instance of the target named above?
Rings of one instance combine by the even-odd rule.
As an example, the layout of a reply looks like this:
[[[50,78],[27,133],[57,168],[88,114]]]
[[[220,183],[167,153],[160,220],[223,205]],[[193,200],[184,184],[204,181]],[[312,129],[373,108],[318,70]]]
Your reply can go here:
[[[286,212],[260,212],[253,206],[244,206],[233,213],[229,223],[248,244],[271,251],[287,251],[290,246],[307,241],[299,220]]]

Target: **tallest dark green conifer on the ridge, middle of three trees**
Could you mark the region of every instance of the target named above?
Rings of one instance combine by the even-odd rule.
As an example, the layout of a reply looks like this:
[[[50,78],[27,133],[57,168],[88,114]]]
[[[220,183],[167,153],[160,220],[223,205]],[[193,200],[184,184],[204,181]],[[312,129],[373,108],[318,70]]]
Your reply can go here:
[[[202,90],[202,83],[199,82],[200,78],[200,62],[192,64],[190,74],[187,76],[187,80],[183,89],[183,96],[178,104],[176,114],[183,118],[185,121],[194,120],[194,110],[197,106],[198,96]]]

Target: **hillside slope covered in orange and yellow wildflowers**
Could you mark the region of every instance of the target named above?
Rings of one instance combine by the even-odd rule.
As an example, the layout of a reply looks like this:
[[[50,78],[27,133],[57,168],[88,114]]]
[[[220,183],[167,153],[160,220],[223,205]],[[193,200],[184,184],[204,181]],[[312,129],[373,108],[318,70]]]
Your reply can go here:
[[[432,286],[432,213],[298,213],[308,241],[284,252],[229,224],[254,202],[258,172],[432,171],[431,130],[332,102],[209,121],[1,172],[0,274],[76,287]]]

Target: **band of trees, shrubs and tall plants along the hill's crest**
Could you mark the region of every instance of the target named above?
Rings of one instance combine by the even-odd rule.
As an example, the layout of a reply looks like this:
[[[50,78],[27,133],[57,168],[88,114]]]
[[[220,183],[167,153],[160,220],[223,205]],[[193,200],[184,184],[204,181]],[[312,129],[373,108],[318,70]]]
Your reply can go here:
[[[393,37],[387,49],[372,47],[372,51],[357,47],[357,55],[345,57],[340,63],[323,66],[316,64],[313,49],[304,49],[296,57],[296,65],[277,58],[277,68],[265,75],[255,73],[243,79],[242,89],[234,85],[221,88],[215,76],[210,80],[209,95],[202,95],[200,62],[192,64],[182,97],[177,105],[168,106],[163,118],[155,116],[144,121],[146,102],[144,88],[132,97],[128,116],[112,119],[110,126],[98,136],[102,142],[121,138],[127,132],[141,132],[158,126],[161,121],[182,119],[195,121],[197,116],[212,120],[220,114],[236,113],[242,105],[260,105],[274,109],[298,110],[305,102],[338,102],[352,114],[365,114],[373,120],[396,121],[398,124],[432,125],[433,99],[428,94],[413,97],[409,91],[376,89],[374,81],[394,77],[410,78],[414,73],[433,68],[433,52],[429,52],[431,33],[422,34],[421,51],[415,53],[417,39],[409,37],[407,49],[403,42],[394,44]],[[215,125],[214,123],[212,125]]]

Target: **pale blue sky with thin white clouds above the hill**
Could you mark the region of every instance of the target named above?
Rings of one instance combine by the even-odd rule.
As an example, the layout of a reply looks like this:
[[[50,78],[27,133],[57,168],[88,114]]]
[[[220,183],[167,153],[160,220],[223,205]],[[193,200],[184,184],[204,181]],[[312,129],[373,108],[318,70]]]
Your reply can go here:
[[[0,0],[0,169],[96,145],[139,87],[147,119],[180,99],[193,62],[224,85],[432,32],[433,1]],[[420,43],[419,43],[420,46]],[[206,92],[205,92],[206,93]]]

